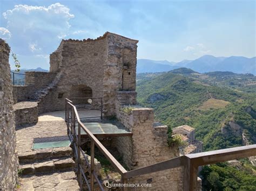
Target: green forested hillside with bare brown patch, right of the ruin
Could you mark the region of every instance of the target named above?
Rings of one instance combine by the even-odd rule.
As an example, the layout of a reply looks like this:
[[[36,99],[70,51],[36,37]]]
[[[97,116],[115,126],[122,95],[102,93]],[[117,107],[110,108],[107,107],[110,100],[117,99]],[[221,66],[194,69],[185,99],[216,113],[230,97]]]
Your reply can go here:
[[[240,85],[230,83],[234,80]],[[196,128],[196,138],[204,142],[204,151],[255,144],[256,93],[247,86],[253,80],[254,76],[246,74],[200,74],[190,69],[144,73],[137,77],[137,100],[154,108],[156,120],[170,128],[185,124]],[[232,178],[232,169],[242,172],[235,171]],[[211,165],[203,172],[205,189],[213,189],[217,183],[219,189],[215,190],[256,189],[256,181],[250,187],[242,183],[245,179],[256,180],[256,168],[248,160],[242,161],[240,168]],[[231,179],[234,187],[226,182]]]

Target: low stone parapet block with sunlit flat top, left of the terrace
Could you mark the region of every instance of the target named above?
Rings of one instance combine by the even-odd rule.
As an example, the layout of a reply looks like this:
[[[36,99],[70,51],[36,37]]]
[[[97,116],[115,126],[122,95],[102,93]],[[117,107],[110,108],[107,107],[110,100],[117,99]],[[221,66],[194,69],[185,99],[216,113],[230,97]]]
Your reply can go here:
[[[14,105],[16,126],[35,124],[38,121],[36,102],[22,101]]]

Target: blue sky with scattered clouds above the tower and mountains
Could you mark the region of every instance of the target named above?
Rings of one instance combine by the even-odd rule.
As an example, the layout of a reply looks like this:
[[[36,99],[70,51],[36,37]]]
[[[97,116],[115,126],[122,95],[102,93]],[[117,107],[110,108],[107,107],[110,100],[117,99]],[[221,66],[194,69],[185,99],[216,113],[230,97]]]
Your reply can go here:
[[[138,59],[251,58],[256,54],[255,10],[255,1],[246,0],[1,0],[0,38],[26,69],[49,69],[49,54],[62,38],[97,38],[106,31],[138,39]]]

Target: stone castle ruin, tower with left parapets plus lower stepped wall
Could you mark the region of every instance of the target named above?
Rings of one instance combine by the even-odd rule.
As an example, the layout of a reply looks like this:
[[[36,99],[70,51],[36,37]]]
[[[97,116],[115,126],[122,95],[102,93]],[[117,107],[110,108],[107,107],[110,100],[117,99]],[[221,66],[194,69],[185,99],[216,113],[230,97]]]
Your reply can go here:
[[[14,86],[16,124],[39,123],[39,114],[65,110],[65,98],[102,97],[103,117],[116,116],[132,134],[109,141],[129,169],[178,156],[179,149],[167,144],[167,126],[154,125],[151,108],[133,108],[130,113],[122,110],[136,105],[137,43],[110,32],[97,39],[62,40],[50,54],[50,72],[26,72],[25,85]],[[130,181],[150,181],[149,189],[182,190],[182,174],[179,167]]]

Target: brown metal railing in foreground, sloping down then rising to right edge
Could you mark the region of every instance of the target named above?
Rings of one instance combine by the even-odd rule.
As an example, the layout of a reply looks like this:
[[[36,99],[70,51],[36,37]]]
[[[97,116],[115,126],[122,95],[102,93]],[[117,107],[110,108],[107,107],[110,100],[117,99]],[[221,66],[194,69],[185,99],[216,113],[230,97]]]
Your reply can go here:
[[[177,158],[158,162],[153,165],[130,170],[127,172],[127,170],[122,165],[120,165],[120,163],[112,156],[112,154],[107,151],[107,149],[99,142],[99,140],[80,121],[76,106],[72,104],[70,99],[66,99],[66,124],[68,126],[68,134],[71,134],[73,139],[73,148],[75,150],[75,157],[77,160],[78,182],[81,189],[83,178],[89,190],[94,189],[94,179],[96,179],[100,189],[104,190],[102,183],[99,181],[95,173],[95,145],[121,175],[122,183],[127,183],[129,178],[134,178],[143,174],[160,172],[162,170],[184,166],[184,190],[197,190],[197,176],[199,166],[256,155],[256,145],[247,145],[242,147],[178,156]],[[78,132],[76,131],[76,126],[78,126]],[[81,148],[81,129],[83,129],[91,141],[91,162],[87,160],[87,157]],[[90,169],[90,185],[82,168],[80,159],[81,153],[86,161],[86,165]],[[123,187],[123,189],[127,190],[127,187]]]

